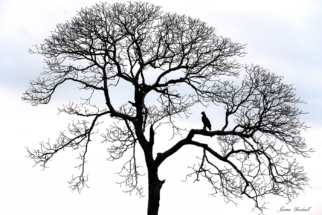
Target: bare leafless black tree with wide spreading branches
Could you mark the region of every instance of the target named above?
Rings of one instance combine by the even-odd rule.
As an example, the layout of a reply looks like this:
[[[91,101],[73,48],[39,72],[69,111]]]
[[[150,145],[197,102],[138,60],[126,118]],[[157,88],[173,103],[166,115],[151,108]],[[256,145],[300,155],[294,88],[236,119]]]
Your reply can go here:
[[[142,2],[96,4],[81,9],[71,21],[58,24],[52,35],[30,53],[45,57],[47,68],[30,82],[22,99],[32,105],[48,104],[57,87],[67,81],[91,92],[84,103],[70,103],[59,109],[78,120],[61,132],[55,143],[42,142],[28,155],[42,167],[59,151],[80,151],[80,174],[73,177],[73,190],[81,191],[88,145],[99,119],[117,120],[101,134],[112,143],[111,160],[132,156],[123,166],[124,184],[129,192],[142,195],[136,150],[141,148],[147,167],[148,215],[158,214],[160,190],[158,177],[162,163],[186,145],[201,148],[200,163],[187,176],[201,177],[221,193],[226,201],[247,196],[263,209],[261,198],[268,194],[296,197],[308,178],[294,155],[309,157],[299,120],[303,114],[295,105],[302,103],[292,86],[259,66],[243,66],[235,58],[244,56],[244,45],[218,36],[213,27],[188,16],[165,13],[159,6]],[[222,77],[245,71],[240,86]],[[133,99],[115,107],[111,88],[130,83]],[[184,92],[180,93],[180,88]],[[91,103],[94,92],[102,92],[106,106]],[[146,98],[152,95],[153,104]],[[151,103],[151,102],[150,102]],[[174,117],[189,116],[196,104],[221,105],[225,121],[213,131],[179,127]],[[199,112],[198,112],[199,114]],[[173,136],[182,139],[163,152],[153,152],[158,143],[155,131],[171,127]],[[206,144],[195,135],[216,137]],[[213,149],[219,144],[220,151]]]

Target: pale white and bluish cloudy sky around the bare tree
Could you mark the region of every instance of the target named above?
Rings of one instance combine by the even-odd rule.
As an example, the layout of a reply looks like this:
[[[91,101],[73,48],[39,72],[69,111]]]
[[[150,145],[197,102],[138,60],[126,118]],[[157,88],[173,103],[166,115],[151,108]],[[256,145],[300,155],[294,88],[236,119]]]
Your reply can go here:
[[[63,86],[48,105],[32,107],[21,101],[30,80],[43,69],[43,58],[30,55],[28,49],[40,44],[55,29],[56,24],[70,20],[82,7],[92,6],[96,0],[0,0],[0,214],[146,214],[146,197],[129,196],[115,182],[125,160],[106,161],[107,145],[100,139],[93,141],[88,154],[89,186],[81,194],[72,192],[67,181],[77,172],[77,154],[68,150],[59,153],[42,171],[26,158],[26,148],[37,148],[40,141],[55,140],[72,118],[57,115],[57,107],[81,96],[77,86]],[[116,1],[107,1],[114,3]],[[119,1],[121,2],[121,1]],[[122,1],[124,2],[124,1]],[[219,35],[234,42],[247,43],[242,63],[258,64],[293,84],[301,105],[309,114],[301,119],[311,128],[303,133],[309,147],[316,150],[310,159],[299,161],[311,178],[307,188],[290,204],[283,198],[267,198],[265,214],[277,213],[280,207],[311,207],[301,214],[322,214],[321,186],[321,131],[322,131],[322,1],[310,0],[150,0],[164,11],[186,14],[214,26]],[[124,90],[124,91],[123,91]],[[123,89],[120,94],[126,92]],[[120,96],[120,95],[118,95]],[[200,112],[180,123],[200,127]],[[215,112],[210,119],[221,119]],[[216,120],[215,120],[216,121]],[[213,127],[222,123],[214,122]],[[157,135],[160,135],[158,133]],[[165,134],[164,134],[165,135]],[[161,136],[161,135],[160,135]],[[160,137],[159,136],[159,137]],[[164,149],[171,142],[162,142]],[[162,147],[159,147],[160,149]],[[163,149],[163,148],[162,148]],[[186,153],[185,153],[186,152]],[[161,191],[160,215],[179,214],[258,214],[251,212],[253,202],[244,198],[238,205],[225,204],[223,198],[210,196],[206,181],[181,182],[189,173],[195,155],[189,150],[171,158],[160,169],[160,179],[166,179]],[[146,188],[146,180],[141,179]]]

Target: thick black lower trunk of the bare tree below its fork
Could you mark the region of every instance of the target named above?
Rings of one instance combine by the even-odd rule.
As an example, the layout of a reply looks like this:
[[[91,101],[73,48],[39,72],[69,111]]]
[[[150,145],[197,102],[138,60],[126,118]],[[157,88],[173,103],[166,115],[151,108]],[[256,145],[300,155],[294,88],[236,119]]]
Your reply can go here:
[[[158,172],[149,171],[149,200],[148,200],[148,215],[158,215],[160,191],[164,181],[158,178]]]

